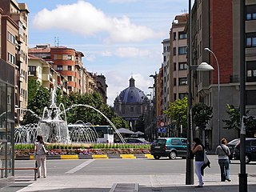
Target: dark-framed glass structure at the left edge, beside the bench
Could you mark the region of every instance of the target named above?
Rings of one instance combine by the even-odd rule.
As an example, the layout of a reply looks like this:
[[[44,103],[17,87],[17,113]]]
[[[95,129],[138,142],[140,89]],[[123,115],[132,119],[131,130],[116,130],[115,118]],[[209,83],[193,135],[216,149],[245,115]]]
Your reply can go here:
[[[0,187],[14,182],[14,66],[0,58]]]

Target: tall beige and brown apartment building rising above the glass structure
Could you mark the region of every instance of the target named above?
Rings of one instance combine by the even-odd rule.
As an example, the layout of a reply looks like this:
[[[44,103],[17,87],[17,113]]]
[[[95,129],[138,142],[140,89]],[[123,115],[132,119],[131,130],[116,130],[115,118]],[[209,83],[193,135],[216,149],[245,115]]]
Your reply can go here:
[[[15,122],[23,118],[27,106],[28,14],[25,3],[1,0],[1,58],[15,67]],[[21,110],[19,110],[21,109]]]

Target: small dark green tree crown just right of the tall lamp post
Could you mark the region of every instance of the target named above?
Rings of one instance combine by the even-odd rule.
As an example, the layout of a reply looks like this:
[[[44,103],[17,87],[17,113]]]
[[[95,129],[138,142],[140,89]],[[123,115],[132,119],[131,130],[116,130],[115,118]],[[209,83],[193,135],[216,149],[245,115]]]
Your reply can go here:
[[[199,130],[206,128],[207,122],[213,117],[213,108],[206,106],[202,102],[196,103],[192,108],[193,122],[195,126],[198,126]]]

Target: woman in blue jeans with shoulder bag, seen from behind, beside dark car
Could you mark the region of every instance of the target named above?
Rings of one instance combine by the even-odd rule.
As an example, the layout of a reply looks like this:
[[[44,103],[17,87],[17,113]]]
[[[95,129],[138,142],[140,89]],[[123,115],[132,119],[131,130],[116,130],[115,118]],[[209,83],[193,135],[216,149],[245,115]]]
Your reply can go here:
[[[221,169],[221,181],[231,182],[230,180],[230,149],[226,146],[226,138],[222,138],[221,145],[217,146],[215,154],[218,154],[218,165]]]

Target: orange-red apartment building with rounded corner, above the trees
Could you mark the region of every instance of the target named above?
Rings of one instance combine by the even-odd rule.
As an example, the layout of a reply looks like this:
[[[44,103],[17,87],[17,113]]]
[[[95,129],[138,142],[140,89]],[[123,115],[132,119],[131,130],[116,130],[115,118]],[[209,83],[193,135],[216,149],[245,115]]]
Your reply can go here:
[[[53,69],[67,79],[69,93],[91,94],[95,91],[94,78],[83,67],[82,52],[66,46],[46,44],[30,48],[29,54],[51,62]]]

